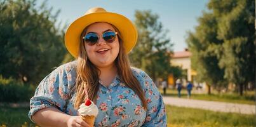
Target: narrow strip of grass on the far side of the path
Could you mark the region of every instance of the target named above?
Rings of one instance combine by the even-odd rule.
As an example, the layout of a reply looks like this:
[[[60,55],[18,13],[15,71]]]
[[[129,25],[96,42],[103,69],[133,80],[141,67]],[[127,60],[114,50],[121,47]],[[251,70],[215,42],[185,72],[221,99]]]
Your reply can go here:
[[[163,90],[159,88],[159,91],[163,95]],[[169,97],[178,97],[177,93],[177,90],[166,90],[166,96]],[[181,91],[181,97],[187,98],[187,90],[183,89]],[[255,92],[248,91],[241,97],[238,93],[217,93],[213,91],[212,95],[207,95],[206,93],[196,93],[196,90],[192,90],[191,99],[255,105]]]

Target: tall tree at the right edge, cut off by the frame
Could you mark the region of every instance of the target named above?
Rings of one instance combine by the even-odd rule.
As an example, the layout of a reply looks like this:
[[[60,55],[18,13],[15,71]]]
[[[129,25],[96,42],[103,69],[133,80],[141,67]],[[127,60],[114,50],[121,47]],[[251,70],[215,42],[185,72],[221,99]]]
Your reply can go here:
[[[217,37],[223,40],[219,65],[224,78],[239,87],[255,82],[255,1],[210,1],[208,8],[219,18]]]

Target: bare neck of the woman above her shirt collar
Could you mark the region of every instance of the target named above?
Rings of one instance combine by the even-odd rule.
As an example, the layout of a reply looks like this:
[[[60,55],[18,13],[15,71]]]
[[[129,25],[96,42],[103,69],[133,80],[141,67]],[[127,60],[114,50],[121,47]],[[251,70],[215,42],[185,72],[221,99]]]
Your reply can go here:
[[[100,81],[102,81],[104,86],[109,86],[118,72],[116,65],[113,64],[108,67],[98,67],[98,69],[100,70]]]

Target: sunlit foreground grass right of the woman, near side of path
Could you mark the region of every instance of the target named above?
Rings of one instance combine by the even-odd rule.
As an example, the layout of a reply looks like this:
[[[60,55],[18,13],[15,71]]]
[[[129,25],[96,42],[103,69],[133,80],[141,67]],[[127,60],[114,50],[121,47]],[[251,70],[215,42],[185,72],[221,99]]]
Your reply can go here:
[[[168,126],[172,127],[213,127],[213,126],[256,126],[255,115],[213,112],[166,105]]]

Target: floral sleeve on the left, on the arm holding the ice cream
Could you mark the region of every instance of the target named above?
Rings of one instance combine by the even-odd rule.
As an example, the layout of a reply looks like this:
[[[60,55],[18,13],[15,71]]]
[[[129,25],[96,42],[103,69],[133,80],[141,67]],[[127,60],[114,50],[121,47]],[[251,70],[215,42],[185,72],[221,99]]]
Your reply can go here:
[[[64,112],[69,92],[74,86],[76,72],[72,65],[61,65],[44,77],[36,88],[34,97],[30,99],[29,118],[38,110],[48,107],[56,107]],[[34,121],[32,121],[34,122]]]

